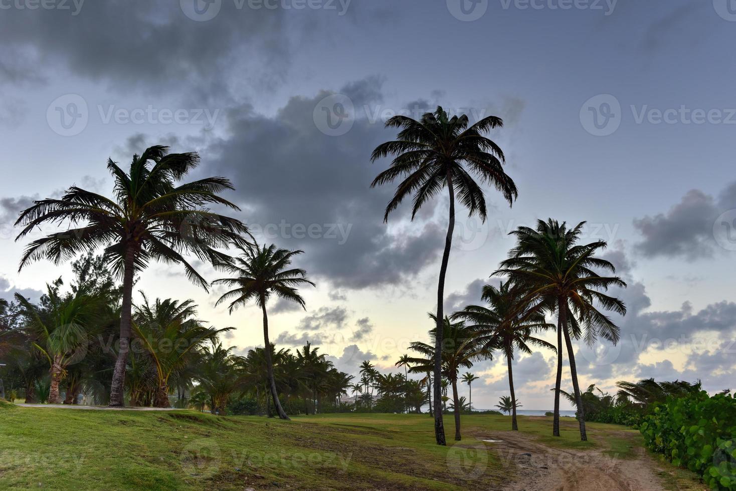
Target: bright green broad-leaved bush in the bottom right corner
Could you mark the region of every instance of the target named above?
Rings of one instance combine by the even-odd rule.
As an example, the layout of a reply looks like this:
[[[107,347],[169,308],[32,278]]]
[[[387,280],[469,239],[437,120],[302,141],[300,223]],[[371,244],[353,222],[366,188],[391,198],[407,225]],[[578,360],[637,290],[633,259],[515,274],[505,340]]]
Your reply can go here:
[[[640,431],[648,448],[700,474],[713,490],[736,490],[736,399],[706,392],[655,404]]]

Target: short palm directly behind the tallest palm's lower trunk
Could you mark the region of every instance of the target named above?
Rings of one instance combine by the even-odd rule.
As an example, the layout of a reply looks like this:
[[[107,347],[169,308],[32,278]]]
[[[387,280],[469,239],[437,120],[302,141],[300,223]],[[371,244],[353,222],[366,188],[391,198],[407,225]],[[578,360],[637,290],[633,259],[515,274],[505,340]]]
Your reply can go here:
[[[434,314],[430,314],[429,317],[434,320]],[[445,318],[442,323],[442,330],[444,331],[442,339],[442,373],[441,376],[445,376],[447,381],[453,387],[453,404],[456,408],[455,413],[455,440],[461,440],[460,435],[460,404],[458,396],[458,378],[461,368],[470,368],[473,366],[473,362],[480,359],[490,359],[491,354],[489,351],[482,349],[482,345],[477,337],[475,337],[475,331],[465,326],[464,322],[451,323],[450,318]],[[431,340],[436,340],[436,327],[429,331]],[[434,359],[434,343],[427,344],[420,341],[415,341],[409,345],[409,349],[417,351],[425,356],[425,358],[411,359],[412,363],[416,366],[412,367],[411,370],[421,370],[422,365],[430,363]],[[409,371],[411,371],[409,370]],[[435,387],[439,385],[440,394],[442,394],[442,383],[437,384],[435,381]],[[437,391],[435,391],[435,397]],[[442,395],[440,395],[442,397]],[[439,406],[439,410],[442,411],[442,405]],[[434,410],[437,410],[435,405]]]

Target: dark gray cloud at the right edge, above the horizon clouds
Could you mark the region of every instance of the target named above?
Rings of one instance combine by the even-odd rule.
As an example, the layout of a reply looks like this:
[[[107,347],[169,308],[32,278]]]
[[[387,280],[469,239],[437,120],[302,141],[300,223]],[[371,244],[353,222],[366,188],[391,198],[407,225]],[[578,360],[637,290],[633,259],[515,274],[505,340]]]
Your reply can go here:
[[[634,220],[643,235],[637,251],[644,257],[682,257],[688,261],[712,257],[718,249],[714,223],[723,212],[736,208],[736,183],[718,198],[690,190],[668,212]]]

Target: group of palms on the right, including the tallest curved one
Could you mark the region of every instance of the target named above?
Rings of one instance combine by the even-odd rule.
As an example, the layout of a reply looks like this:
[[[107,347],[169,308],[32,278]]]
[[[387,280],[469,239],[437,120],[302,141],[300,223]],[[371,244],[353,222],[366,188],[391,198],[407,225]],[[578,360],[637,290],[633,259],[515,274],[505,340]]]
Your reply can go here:
[[[529,338],[536,329],[546,328],[547,325],[541,316],[544,314],[556,316],[557,374],[553,434],[559,437],[562,339],[564,337],[570,360],[575,398],[578,407],[581,407],[572,340],[584,338],[587,343],[592,344],[598,337],[603,337],[612,343],[618,342],[620,337],[618,326],[600,312],[599,308],[624,315],[626,308],[623,302],[619,298],[606,295],[603,291],[609,287],[625,287],[626,284],[616,276],[600,276],[597,270],[615,273],[615,268],[605,259],[595,257],[598,251],[606,247],[604,241],[579,243],[584,223],[568,229],[565,223],[552,219],[546,222],[539,221],[536,229],[523,226],[512,232],[517,238],[517,245],[510,252],[509,259],[503,261],[500,268],[493,273],[506,277],[506,283],[500,287],[505,293],[499,295],[507,295],[505,302],[511,307],[506,312],[494,312],[496,306],[490,307],[487,311],[483,311],[483,307],[466,309],[461,314],[453,314],[454,319],[461,320],[456,325],[451,323],[450,318],[445,318],[443,311],[445,276],[455,226],[456,199],[467,208],[469,215],[477,213],[481,221],[485,221],[484,191],[475,182],[473,175],[478,176],[481,184],[495,187],[509,205],[518,196],[513,179],[503,171],[503,151],[498,144],[484,136],[489,130],[501,126],[503,121],[495,116],[489,116],[470,125],[467,115],[450,117],[442,107],[437,107],[435,112],[425,113],[420,121],[403,115],[394,116],[386,121],[386,127],[400,129],[396,139],[382,143],[372,154],[373,161],[389,156],[393,157],[393,160],[386,171],[378,174],[372,186],[389,184],[400,179],[394,197],[386,207],[384,221],[388,221],[389,214],[408,196],[412,198],[411,219],[414,220],[422,205],[447,187],[450,201],[449,221],[445,250],[439,269],[435,328],[431,332],[434,346],[423,343],[413,345],[425,360],[434,362],[435,380],[441,380],[443,372],[450,375],[453,370],[446,362],[449,354],[443,343],[445,334],[453,335],[453,332],[467,330],[464,335],[469,337],[464,337],[461,344],[453,344],[449,351],[457,351],[458,353],[453,356],[472,361],[489,356],[488,352],[494,343],[502,345],[500,333],[506,329],[528,332],[524,343],[537,343]],[[490,290],[484,291],[486,299],[491,298],[489,295],[492,295]],[[464,321],[473,323],[473,326],[464,326]],[[472,335],[473,331],[477,331],[478,334]],[[517,346],[517,343],[514,341],[506,347],[501,345],[497,347],[503,350],[510,368],[513,354],[511,347]],[[464,353],[461,354],[459,351]],[[462,363],[460,359],[457,361],[458,366]],[[427,368],[427,365],[423,365],[417,370]],[[456,390],[453,392],[456,394]],[[440,394],[440,385],[434,384],[435,438],[438,445],[445,445]],[[512,402],[513,399],[512,389]],[[458,405],[459,401],[455,397],[455,406]],[[515,404],[512,406],[515,407]],[[584,415],[581,415],[579,420],[581,440],[587,440]],[[459,412],[456,412],[455,423],[456,440],[459,440]]]

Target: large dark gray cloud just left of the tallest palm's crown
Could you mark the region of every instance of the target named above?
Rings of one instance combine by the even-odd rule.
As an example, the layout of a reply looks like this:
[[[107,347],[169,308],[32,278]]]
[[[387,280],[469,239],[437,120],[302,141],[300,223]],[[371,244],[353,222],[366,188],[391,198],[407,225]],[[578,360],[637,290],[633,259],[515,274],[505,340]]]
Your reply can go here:
[[[375,104],[381,101],[381,80],[354,82],[340,93],[355,107]],[[405,226],[403,207],[392,215],[397,229],[389,232],[383,209],[393,189],[369,188],[386,162],[371,165],[369,156],[392,132],[358,118],[345,135],[322,134],[314,110],[326,96],[293,97],[275,118],[250,107],[230,111],[230,137],[203,152],[213,158],[207,171],[233,179],[236,200],[248,210],[243,218],[270,230],[267,240],[305,249],[299,266],[311,276],[347,288],[404,282],[436,260],[443,227],[434,222]],[[305,232],[310,227],[314,234]]]

